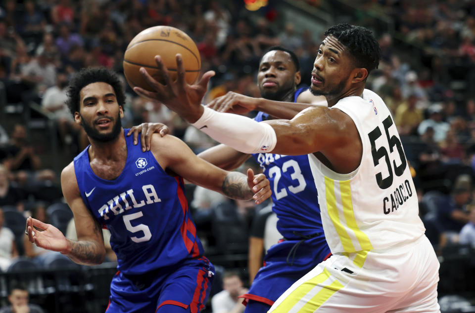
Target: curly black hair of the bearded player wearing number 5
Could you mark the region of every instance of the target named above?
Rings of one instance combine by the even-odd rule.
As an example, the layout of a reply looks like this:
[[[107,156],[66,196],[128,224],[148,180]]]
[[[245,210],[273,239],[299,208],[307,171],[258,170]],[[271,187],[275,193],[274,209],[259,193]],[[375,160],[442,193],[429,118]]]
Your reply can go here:
[[[85,86],[93,82],[105,82],[114,88],[117,103],[122,106],[125,102],[125,92],[122,87],[122,82],[116,73],[100,67],[100,68],[86,68],[79,71],[69,82],[66,94],[68,96],[66,105],[74,117],[74,112],[79,112],[80,96],[79,92]]]

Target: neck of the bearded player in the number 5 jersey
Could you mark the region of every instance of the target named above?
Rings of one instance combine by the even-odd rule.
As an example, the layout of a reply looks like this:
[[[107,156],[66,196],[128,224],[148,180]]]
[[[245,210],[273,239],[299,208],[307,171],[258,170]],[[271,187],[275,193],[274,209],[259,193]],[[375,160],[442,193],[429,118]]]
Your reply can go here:
[[[89,157],[90,159],[100,159],[100,160],[120,160],[123,155],[122,152],[125,150],[127,154],[127,144],[124,137],[124,128],[121,129],[117,138],[102,142],[97,141],[89,137],[89,142],[91,143],[91,148],[89,148]]]

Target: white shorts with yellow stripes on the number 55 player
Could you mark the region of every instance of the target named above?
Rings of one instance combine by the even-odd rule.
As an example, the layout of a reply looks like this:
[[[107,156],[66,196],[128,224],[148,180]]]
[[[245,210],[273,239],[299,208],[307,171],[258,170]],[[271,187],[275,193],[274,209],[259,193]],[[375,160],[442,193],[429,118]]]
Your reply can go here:
[[[288,288],[269,313],[440,312],[438,270],[425,235],[387,250],[335,254]]]

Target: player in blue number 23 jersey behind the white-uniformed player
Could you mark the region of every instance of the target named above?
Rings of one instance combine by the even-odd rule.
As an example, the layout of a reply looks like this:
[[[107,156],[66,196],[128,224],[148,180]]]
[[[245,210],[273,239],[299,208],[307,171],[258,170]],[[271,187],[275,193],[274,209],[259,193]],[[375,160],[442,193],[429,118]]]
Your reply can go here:
[[[259,62],[257,82],[264,99],[285,102],[314,102],[326,106],[324,97],[309,95],[308,87],[297,89],[300,83],[298,58],[280,46],[271,47]],[[210,106],[221,106],[223,100],[239,97],[229,93]],[[259,112],[256,121],[273,119]],[[160,129],[161,124],[150,125]],[[135,126],[133,130],[141,130]],[[146,146],[147,144],[145,144]],[[218,145],[198,155],[208,162],[233,170],[249,157],[263,168],[272,187],[273,211],[279,218],[277,228],[284,239],[272,246],[264,257],[248,293],[240,296],[246,304],[245,313],[265,313],[272,304],[304,274],[330,256],[330,248],[320,217],[317,190],[307,155],[245,154],[225,145]],[[261,265],[259,265],[261,266]]]

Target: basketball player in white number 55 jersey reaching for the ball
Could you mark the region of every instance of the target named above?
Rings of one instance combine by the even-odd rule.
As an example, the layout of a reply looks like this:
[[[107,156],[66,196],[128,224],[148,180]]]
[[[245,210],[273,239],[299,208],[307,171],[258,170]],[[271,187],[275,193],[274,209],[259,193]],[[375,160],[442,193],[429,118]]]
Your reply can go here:
[[[134,89],[239,151],[309,154],[333,255],[287,289],[269,312],[439,312],[439,263],[418,216],[399,134],[381,98],[365,89],[379,64],[378,42],[369,30],[348,24],[325,35],[310,89],[326,97],[328,108],[308,108],[291,120],[256,122],[204,108],[200,102],[213,73],[188,85],[180,55],[176,81],[157,56],[166,85],[141,69],[156,92]],[[261,111],[272,104],[253,103]],[[292,108],[299,110],[294,103]]]

